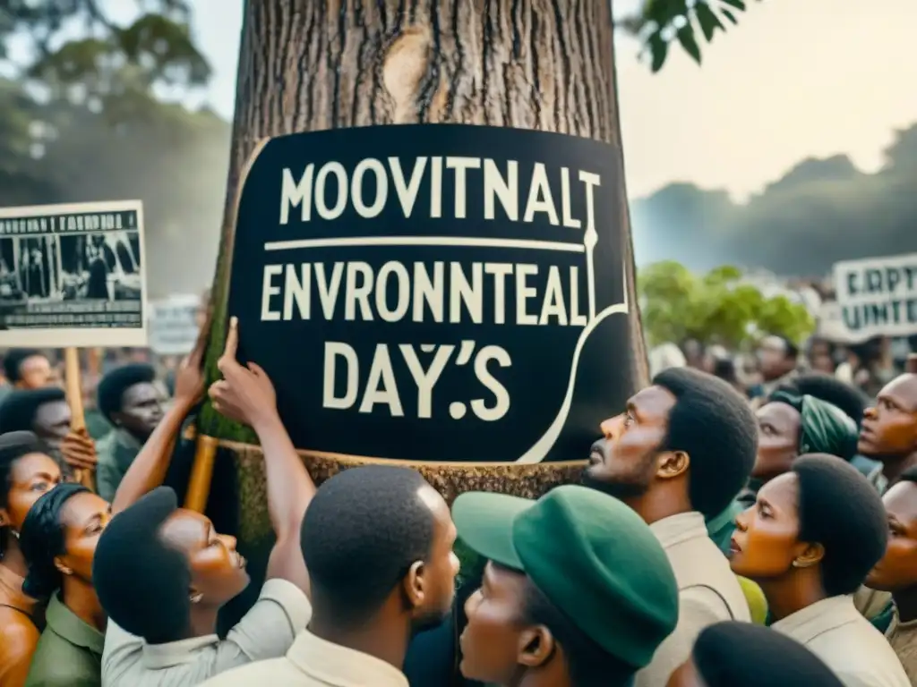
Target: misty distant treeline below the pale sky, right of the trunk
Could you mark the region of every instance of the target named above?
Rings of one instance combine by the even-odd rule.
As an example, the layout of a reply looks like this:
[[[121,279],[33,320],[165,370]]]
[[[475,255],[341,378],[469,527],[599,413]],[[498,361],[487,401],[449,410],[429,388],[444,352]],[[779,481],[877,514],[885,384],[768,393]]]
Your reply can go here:
[[[896,133],[875,173],[845,156],[802,160],[747,202],[670,184],[631,202],[638,263],[694,270],[724,261],[822,278],[835,262],[917,252],[917,125]]]

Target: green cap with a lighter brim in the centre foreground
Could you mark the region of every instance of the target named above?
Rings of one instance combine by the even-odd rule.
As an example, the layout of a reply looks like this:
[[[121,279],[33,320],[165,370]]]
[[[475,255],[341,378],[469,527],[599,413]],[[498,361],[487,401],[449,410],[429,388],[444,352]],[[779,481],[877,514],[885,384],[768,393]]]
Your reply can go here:
[[[458,535],[525,573],[587,636],[640,669],[679,617],[679,589],[666,552],[630,507],[580,485],[537,501],[469,493],[452,507]]]

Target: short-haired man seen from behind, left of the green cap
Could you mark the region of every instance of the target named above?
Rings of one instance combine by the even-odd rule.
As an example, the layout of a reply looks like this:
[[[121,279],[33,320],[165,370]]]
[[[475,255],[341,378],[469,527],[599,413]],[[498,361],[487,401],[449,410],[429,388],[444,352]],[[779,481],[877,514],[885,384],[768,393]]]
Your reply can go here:
[[[408,642],[440,624],[452,604],[455,540],[446,501],[414,470],[370,465],[335,475],[303,519],[308,627],[284,658],[204,684],[408,687]]]

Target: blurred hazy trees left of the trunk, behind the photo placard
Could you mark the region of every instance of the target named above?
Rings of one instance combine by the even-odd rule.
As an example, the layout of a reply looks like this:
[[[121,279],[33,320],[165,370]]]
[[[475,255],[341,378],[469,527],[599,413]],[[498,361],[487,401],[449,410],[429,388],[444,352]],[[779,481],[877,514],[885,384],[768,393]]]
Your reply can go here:
[[[186,0],[0,3],[0,205],[140,199],[154,296],[210,282],[229,125],[163,98],[204,86]],[[23,39],[27,39],[23,54]],[[4,57],[6,55],[6,58]],[[16,58],[15,60],[13,58]]]

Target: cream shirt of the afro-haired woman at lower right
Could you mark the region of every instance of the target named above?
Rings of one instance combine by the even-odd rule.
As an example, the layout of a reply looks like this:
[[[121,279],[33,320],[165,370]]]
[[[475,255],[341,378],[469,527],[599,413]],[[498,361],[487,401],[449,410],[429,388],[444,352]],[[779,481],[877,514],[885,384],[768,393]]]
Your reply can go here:
[[[845,687],[911,687],[894,649],[851,596],[823,599],[770,627],[805,645]]]

